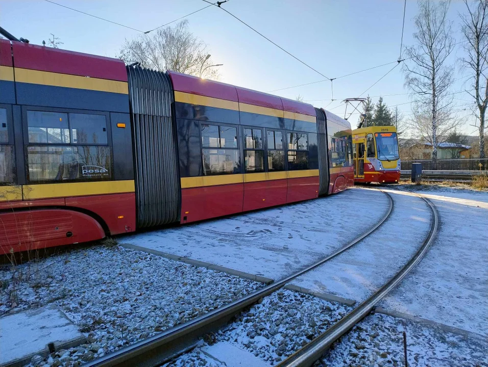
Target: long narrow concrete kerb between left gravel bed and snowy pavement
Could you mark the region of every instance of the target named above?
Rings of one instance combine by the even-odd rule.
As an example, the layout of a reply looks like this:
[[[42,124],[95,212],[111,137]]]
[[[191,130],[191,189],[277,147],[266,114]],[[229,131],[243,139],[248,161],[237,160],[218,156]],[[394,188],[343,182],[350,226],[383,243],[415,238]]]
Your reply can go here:
[[[206,263],[205,261],[195,260],[195,259],[191,259],[189,257],[184,257],[184,256],[173,255],[173,254],[170,254],[167,252],[158,251],[158,250],[154,250],[154,249],[148,249],[148,248],[137,246],[137,245],[119,244],[119,246],[122,246],[122,247],[130,249],[130,250],[147,252],[147,253],[150,253],[150,254],[153,254],[156,256],[165,257],[165,258],[170,259],[170,260],[181,261],[182,263],[185,263],[188,265],[193,265],[193,266],[196,266],[198,268],[205,268],[208,270],[218,271],[218,272],[226,273],[229,275],[235,275],[235,276],[238,276],[239,278],[257,281],[259,283],[271,284],[275,281],[272,278],[266,278],[266,277],[256,275],[256,274],[245,273],[245,272],[241,272],[239,270],[226,268],[226,267],[219,266],[219,265],[214,265],[211,263]]]

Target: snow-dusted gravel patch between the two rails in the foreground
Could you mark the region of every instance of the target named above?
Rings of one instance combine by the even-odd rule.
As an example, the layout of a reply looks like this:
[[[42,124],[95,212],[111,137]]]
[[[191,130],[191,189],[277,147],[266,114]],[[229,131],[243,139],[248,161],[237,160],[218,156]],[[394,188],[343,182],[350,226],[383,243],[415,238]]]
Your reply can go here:
[[[291,355],[340,320],[351,308],[310,295],[282,290],[266,297],[206,343],[226,341],[270,364]],[[212,365],[202,346],[166,366]],[[203,364],[201,364],[203,363]]]

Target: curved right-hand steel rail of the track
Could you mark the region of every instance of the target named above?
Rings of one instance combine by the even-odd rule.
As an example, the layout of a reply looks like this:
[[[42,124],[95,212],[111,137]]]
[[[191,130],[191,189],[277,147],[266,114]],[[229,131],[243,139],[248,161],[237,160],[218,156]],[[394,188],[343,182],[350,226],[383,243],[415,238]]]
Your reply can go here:
[[[276,367],[298,367],[312,365],[315,361],[322,357],[322,355],[332,346],[332,344],[339,337],[351,330],[354,325],[356,325],[365,316],[367,316],[368,313],[370,313],[370,311],[373,309],[373,307],[384,296],[386,296],[388,292],[392,291],[402,281],[402,279],[420,262],[420,260],[427,253],[430,245],[435,239],[435,235],[437,234],[438,230],[439,218],[437,209],[432,204],[432,202],[421,195],[416,195],[422,198],[428,204],[432,213],[430,231],[422,246],[410,258],[408,263],[370,298],[361,303],[358,307],[348,313],[344,318],[340,319],[330,329],[326,330],[321,335],[313,339],[310,343],[305,345],[303,348],[278,363]]]

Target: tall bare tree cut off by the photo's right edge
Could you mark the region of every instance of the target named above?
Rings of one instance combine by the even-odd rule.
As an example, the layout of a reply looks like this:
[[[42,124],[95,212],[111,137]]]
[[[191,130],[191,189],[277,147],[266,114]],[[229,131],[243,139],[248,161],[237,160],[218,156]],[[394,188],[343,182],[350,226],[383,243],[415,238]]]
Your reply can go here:
[[[484,154],[484,126],[488,107],[488,1],[477,0],[470,8],[465,0],[468,14],[460,14],[462,34],[468,41],[465,46],[467,57],[461,62],[472,71],[474,92],[468,93],[475,99],[479,120],[479,158]]]

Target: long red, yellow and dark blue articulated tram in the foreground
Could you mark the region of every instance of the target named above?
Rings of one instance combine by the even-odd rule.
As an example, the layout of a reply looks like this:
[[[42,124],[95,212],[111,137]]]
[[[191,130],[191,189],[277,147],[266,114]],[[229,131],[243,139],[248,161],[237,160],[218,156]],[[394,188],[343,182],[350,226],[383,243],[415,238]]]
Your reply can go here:
[[[310,104],[0,39],[0,253],[354,185],[350,124]]]

